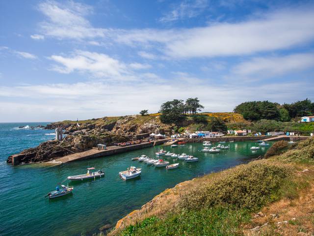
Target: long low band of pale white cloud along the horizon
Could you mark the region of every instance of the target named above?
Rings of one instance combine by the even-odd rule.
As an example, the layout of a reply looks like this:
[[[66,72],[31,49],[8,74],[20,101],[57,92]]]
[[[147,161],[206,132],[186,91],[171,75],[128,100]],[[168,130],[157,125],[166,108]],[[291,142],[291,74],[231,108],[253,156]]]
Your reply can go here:
[[[302,82],[263,85],[219,85],[185,83],[142,82],[114,85],[105,82],[0,86],[0,117],[2,121],[64,120],[76,118],[97,118],[137,114],[149,109],[156,112],[161,103],[175,98],[186,99],[197,96],[206,111],[232,111],[240,102],[256,99],[279,103],[292,102],[312,92],[313,85]],[[188,92],[186,89],[188,88]],[[245,93],[239,95],[240,90]],[[258,91],[258,93],[256,92]],[[147,94],[143,99],[143,92]],[[311,98],[311,97],[309,97]],[[40,105],[38,100],[41,101]],[[101,104],[101,106],[100,106]],[[23,117],[20,116],[23,114]],[[15,118],[15,119],[13,119]],[[23,120],[21,120],[23,119]]]

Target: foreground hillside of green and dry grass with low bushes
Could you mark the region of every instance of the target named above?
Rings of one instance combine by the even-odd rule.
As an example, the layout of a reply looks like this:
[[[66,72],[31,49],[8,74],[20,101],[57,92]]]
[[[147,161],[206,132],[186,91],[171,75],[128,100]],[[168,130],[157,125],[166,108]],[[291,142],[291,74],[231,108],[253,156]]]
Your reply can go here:
[[[167,190],[166,194],[158,195],[156,203],[152,200],[153,205],[147,205],[153,206],[155,210],[153,215],[148,215],[147,208],[144,206],[132,215],[136,223],[133,221],[134,223],[130,225],[132,217],[128,217],[127,228],[120,228],[110,234],[120,236],[238,236],[244,234],[244,228],[248,225],[251,228],[256,227],[252,225],[251,216],[253,212],[261,209],[279,211],[284,207],[300,208],[300,210],[291,211],[300,213],[302,204],[309,204],[305,197],[300,198],[300,193],[304,196],[314,180],[313,175],[300,173],[303,169],[309,168],[309,164],[312,163],[313,148],[314,138],[311,138],[289,150],[279,148],[279,152],[284,153],[274,155],[269,159],[254,161],[220,173],[186,181],[176,186],[175,190]],[[169,202],[171,199],[172,201]],[[304,203],[301,204],[301,200],[298,199]],[[282,202],[283,200],[285,201]],[[277,208],[276,205],[278,205]],[[263,209],[264,206],[272,207]],[[158,207],[163,208],[158,209]],[[308,208],[311,209],[311,206]],[[145,210],[146,214],[143,213]],[[146,217],[143,218],[145,215]],[[305,222],[291,220],[292,216],[289,217],[288,225],[299,228],[309,228],[311,227],[310,220],[314,221],[314,218],[309,218],[309,222]],[[268,223],[268,226],[257,234],[280,235],[278,224],[275,224],[273,220]],[[252,231],[248,230],[248,232],[248,235],[252,235]]]

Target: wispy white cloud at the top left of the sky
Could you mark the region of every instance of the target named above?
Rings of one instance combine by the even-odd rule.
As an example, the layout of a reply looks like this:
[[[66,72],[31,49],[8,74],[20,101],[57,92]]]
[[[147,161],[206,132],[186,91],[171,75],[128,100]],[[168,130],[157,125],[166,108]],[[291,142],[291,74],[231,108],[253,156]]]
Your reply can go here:
[[[105,36],[105,29],[93,28],[84,18],[93,11],[89,5],[74,1],[45,1],[39,4],[38,10],[48,17],[48,21],[40,23],[43,34],[47,36],[59,39]]]

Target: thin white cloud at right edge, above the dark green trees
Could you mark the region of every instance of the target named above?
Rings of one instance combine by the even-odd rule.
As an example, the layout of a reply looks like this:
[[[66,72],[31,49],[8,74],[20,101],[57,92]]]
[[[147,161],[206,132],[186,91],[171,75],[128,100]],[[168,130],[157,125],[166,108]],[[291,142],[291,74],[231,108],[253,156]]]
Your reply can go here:
[[[277,57],[259,57],[242,62],[233,68],[240,76],[279,76],[314,67],[314,54],[292,54]]]

